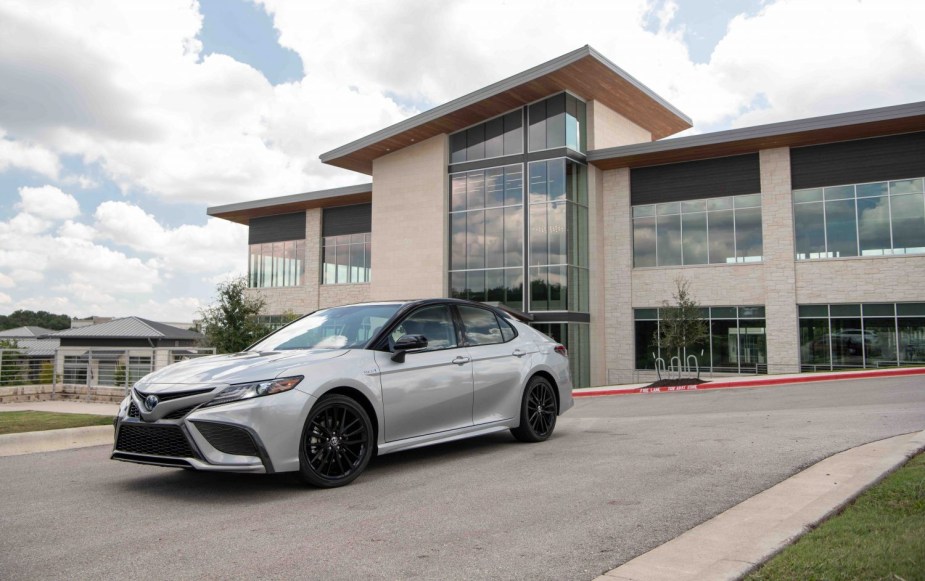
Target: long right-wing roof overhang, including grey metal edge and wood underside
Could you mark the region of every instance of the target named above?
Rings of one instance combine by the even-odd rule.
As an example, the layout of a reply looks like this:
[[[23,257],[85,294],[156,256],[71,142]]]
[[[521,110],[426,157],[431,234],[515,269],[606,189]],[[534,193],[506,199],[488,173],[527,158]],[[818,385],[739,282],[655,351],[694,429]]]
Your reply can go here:
[[[645,167],[925,131],[925,101],[588,152],[600,169]]]

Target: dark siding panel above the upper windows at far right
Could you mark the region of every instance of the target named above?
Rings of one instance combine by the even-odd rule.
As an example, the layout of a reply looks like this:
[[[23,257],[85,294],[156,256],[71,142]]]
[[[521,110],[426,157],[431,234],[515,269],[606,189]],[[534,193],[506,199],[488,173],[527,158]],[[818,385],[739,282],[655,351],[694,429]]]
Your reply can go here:
[[[794,189],[925,176],[925,132],[795,147]]]

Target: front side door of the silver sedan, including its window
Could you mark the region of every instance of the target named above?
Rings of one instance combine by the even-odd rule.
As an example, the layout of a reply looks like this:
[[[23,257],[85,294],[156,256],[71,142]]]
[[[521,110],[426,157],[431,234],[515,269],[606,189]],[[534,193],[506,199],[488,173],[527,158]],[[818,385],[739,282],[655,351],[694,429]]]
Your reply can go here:
[[[403,363],[376,352],[382,385],[385,440],[392,442],[472,425],[472,365],[459,345],[447,305],[429,305],[410,313],[392,332],[424,335],[424,349],[408,351]]]

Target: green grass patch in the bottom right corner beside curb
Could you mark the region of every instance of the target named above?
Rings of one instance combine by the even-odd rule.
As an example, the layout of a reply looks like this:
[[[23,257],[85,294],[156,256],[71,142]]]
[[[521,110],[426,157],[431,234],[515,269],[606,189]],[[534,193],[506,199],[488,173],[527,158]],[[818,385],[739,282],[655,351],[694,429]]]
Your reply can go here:
[[[925,580],[925,454],[746,577],[779,579]]]

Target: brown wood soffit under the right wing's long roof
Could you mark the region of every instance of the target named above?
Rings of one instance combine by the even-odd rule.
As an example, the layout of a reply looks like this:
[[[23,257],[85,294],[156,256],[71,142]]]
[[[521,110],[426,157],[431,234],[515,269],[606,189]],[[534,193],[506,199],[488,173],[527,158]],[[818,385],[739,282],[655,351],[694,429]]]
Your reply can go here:
[[[625,167],[646,167],[714,157],[727,157],[743,153],[754,153],[761,149],[771,149],[774,147],[821,145],[823,143],[832,143],[836,141],[850,141],[854,139],[882,137],[916,131],[925,131],[925,115],[843,125],[840,127],[807,129],[779,135],[752,138],[744,137],[719,143],[691,145],[687,147],[683,146],[683,140],[687,138],[681,137],[678,138],[678,143],[681,144],[680,147],[658,149],[658,146],[670,145],[671,142],[674,141],[669,139],[657,145],[655,143],[651,144],[653,146],[652,151],[626,154],[615,151],[613,157],[607,158],[595,157],[594,152],[589,152],[589,163],[602,170]],[[629,147],[633,146],[627,146],[627,149]]]

